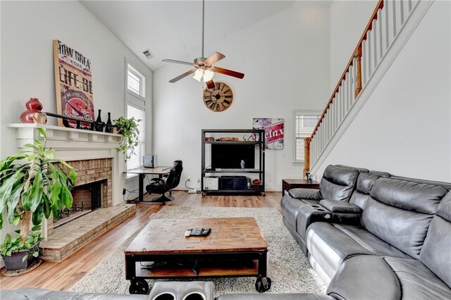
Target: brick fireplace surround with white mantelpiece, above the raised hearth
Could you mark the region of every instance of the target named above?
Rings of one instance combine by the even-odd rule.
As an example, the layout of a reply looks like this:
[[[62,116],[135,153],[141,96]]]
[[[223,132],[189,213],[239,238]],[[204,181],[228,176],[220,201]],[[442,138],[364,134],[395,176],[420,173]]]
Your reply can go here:
[[[9,127],[15,130],[19,150],[34,139],[42,139],[37,128],[46,130],[47,147],[54,149],[56,158],[67,161],[78,172],[77,188],[73,191],[78,210],[82,205],[87,211],[91,209],[91,201],[87,199],[92,197],[92,184],[96,182],[101,184],[102,209],[123,204],[124,158],[116,151],[121,135],[41,124],[11,124]],[[50,218],[44,220],[42,233],[48,237],[51,232],[54,232],[54,220]]]

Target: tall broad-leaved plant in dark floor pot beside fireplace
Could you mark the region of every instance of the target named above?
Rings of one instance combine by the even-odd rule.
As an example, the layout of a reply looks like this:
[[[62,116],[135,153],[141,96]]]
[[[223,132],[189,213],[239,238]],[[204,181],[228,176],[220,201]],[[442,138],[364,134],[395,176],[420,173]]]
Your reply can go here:
[[[43,143],[35,139],[33,144],[24,145],[29,150],[0,161],[0,229],[4,212],[8,223],[21,223],[18,237],[7,234],[0,244],[8,271],[29,268],[39,255],[42,219],[50,214],[57,219],[64,208],[72,207],[70,190],[77,173],[66,161],[55,158],[54,150],[46,149],[45,131],[37,130],[44,137]],[[34,225],[31,229],[30,223]]]

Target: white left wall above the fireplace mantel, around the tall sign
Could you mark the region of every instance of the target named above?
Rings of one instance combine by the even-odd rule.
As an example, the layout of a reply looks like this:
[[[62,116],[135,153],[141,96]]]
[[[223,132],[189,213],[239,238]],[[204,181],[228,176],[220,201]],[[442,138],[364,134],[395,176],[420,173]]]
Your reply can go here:
[[[78,1],[1,1],[0,158],[16,151],[7,125],[20,123],[30,97],[39,98],[44,111],[56,113],[53,39],[90,58],[94,108],[102,110],[102,118],[108,111],[112,118],[125,115],[125,58],[147,76],[147,113],[152,117],[152,71]],[[56,119],[49,118],[49,124],[56,125]],[[147,124],[150,151],[152,122]],[[130,182],[130,188],[135,186],[136,180]]]

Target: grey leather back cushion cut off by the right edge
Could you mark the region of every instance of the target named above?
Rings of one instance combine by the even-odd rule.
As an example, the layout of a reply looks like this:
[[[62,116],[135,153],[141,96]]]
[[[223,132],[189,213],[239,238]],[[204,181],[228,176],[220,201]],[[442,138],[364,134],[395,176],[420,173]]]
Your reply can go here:
[[[451,192],[440,202],[432,219],[420,260],[451,287]]]

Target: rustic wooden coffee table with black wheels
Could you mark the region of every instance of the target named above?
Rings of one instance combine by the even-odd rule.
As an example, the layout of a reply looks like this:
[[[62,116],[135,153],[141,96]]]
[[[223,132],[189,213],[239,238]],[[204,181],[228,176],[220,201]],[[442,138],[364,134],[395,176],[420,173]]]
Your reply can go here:
[[[211,233],[185,237],[189,228]],[[258,292],[271,288],[268,244],[253,218],[151,220],[124,252],[130,294],[147,294],[150,278],[255,276]]]

